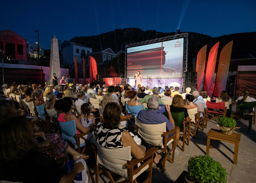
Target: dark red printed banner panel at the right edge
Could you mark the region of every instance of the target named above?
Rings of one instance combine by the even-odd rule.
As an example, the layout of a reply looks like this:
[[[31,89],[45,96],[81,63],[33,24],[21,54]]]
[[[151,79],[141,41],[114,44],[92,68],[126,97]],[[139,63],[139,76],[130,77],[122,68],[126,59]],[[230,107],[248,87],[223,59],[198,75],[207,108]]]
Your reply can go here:
[[[248,91],[249,96],[256,99],[256,65],[241,65],[237,69],[236,96],[243,96],[243,91]]]

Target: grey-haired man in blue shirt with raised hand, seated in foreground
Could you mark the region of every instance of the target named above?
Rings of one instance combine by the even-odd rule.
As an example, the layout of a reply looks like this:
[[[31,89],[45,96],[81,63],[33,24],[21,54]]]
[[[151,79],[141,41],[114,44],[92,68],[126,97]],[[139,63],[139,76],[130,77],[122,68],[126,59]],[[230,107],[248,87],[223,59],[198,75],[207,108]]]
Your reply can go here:
[[[140,122],[145,123],[145,124],[159,124],[166,122],[166,131],[171,131],[172,129],[175,128],[175,122],[174,119],[172,118],[172,114],[170,111],[170,106],[166,105],[166,111],[168,112],[169,115],[169,120],[167,117],[163,114],[157,113],[157,109],[159,107],[159,99],[157,96],[151,96],[148,99],[148,110],[140,110],[138,113],[137,119],[140,120]],[[173,134],[170,134],[168,137],[172,136]],[[174,141],[174,145],[177,146],[177,143],[180,138],[180,131],[176,134],[176,139],[177,142]],[[179,151],[175,149],[175,156],[179,154]]]

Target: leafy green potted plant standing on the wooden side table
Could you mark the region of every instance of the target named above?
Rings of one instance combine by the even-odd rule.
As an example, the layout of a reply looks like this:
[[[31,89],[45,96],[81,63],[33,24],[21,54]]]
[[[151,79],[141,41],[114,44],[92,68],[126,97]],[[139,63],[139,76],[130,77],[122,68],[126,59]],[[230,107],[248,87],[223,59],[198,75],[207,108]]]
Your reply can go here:
[[[229,117],[219,117],[217,126],[220,128],[221,133],[231,135],[233,134],[235,129],[240,127],[236,127],[236,120]]]

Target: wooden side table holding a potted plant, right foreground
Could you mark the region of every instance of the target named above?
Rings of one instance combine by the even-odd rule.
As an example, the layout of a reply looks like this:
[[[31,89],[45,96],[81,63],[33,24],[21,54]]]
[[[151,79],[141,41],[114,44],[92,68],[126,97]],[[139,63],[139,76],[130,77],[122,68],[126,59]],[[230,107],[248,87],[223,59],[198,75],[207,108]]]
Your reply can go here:
[[[220,130],[211,128],[207,133],[206,155],[209,155],[209,148],[212,149],[213,140],[221,140],[235,144],[234,164],[237,164],[238,148],[241,134],[233,133],[232,135],[222,134]]]

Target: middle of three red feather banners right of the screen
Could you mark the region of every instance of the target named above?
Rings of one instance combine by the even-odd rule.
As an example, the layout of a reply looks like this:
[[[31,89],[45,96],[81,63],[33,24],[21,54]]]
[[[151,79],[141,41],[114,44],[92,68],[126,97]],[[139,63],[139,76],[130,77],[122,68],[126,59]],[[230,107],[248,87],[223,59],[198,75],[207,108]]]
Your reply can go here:
[[[209,97],[212,96],[213,77],[215,72],[215,65],[217,60],[219,43],[220,42],[212,46],[212,49],[210,50],[208,55],[208,62],[207,62],[207,68],[205,73],[205,79],[204,79],[204,89],[207,91],[207,94]]]

